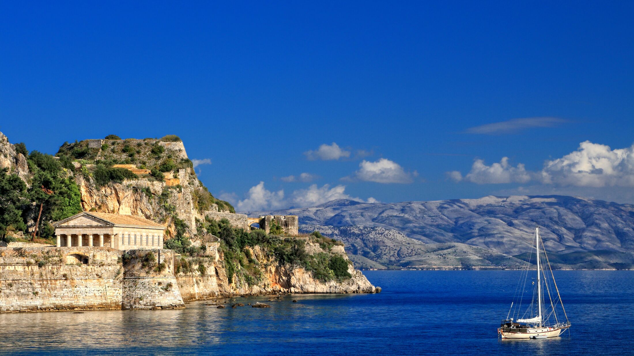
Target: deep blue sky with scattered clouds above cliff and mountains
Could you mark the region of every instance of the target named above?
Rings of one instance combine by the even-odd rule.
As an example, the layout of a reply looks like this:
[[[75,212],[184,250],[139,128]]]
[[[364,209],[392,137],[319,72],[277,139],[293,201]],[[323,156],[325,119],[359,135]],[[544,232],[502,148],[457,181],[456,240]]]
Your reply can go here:
[[[174,133],[241,210],[634,203],[633,15],[630,2],[7,1],[0,131],[49,153]]]

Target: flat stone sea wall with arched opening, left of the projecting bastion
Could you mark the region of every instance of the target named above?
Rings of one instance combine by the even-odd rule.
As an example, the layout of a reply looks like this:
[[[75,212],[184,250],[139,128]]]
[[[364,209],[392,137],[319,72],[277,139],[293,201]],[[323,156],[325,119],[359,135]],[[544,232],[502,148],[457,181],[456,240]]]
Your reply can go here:
[[[120,309],[119,255],[107,247],[0,248],[0,312]]]

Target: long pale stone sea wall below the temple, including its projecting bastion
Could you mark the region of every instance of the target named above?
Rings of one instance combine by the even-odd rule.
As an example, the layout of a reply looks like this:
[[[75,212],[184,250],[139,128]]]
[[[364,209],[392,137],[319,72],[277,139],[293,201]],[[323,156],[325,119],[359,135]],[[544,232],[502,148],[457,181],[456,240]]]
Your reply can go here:
[[[143,271],[138,256],[148,253],[165,262],[163,271]],[[3,247],[0,312],[183,307],[173,259],[171,250]]]

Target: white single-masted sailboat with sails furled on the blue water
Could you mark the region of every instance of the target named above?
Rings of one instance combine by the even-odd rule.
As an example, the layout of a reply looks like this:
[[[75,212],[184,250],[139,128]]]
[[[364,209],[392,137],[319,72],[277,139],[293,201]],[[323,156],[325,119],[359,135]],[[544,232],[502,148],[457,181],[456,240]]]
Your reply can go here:
[[[498,328],[498,335],[503,339],[554,338],[561,335],[571,326],[559,295],[559,288],[557,288],[557,283],[555,283],[555,276],[550,267],[548,255],[543,247],[538,226],[535,228],[535,244],[533,246],[537,262],[537,276],[535,279],[531,278],[530,281],[531,286],[533,286],[533,297],[531,303],[522,308],[522,299],[524,299],[524,294],[527,291],[526,285],[529,283],[528,276],[531,274],[529,273],[531,271],[530,265],[527,263],[526,269],[522,273],[522,278],[520,278],[515,289],[514,300],[508,310],[507,319],[503,320],[500,328]],[[542,254],[540,254],[540,248],[543,250]],[[531,261],[532,256],[533,252],[531,251],[527,262]],[[555,297],[555,292],[557,295],[556,298],[553,298]],[[546,303],[546,298],[549,300],[548,303]]]

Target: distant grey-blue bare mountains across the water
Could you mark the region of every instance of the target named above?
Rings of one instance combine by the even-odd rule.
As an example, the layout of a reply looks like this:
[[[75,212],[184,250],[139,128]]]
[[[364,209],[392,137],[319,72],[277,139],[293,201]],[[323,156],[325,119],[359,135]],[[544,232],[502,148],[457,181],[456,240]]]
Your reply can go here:
[[[629,269],[634,257],[634,206],[579,197],[484,197],[393,204],[340,199],[316,207],[249,214],[273,213],[297,215],[302,231],[320,230],[344,241],[349,254],[384,267],[453,266],[450,259],[441,257],[467,261],[457,252],[462,244],[481,249],[471,250],[473,257],[461,266],[474,266],[474,262],[487,266],[484,261],[488,261],[512,267],[518,260],[511,256],[522,257],[531,249],[535,226],[541,226],[546,249],[559,268]],[[440,252],[436,249],[441,246],[430,246],[432,243],[452,243],[456,250]],[[500,260],[496,254],[507,259]],[[370,263],[364,266],[370,267]]]

